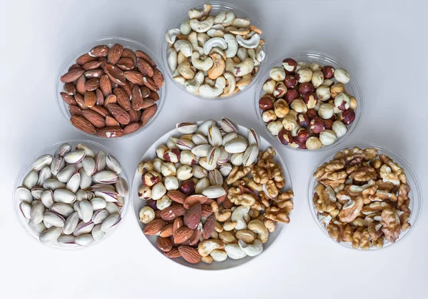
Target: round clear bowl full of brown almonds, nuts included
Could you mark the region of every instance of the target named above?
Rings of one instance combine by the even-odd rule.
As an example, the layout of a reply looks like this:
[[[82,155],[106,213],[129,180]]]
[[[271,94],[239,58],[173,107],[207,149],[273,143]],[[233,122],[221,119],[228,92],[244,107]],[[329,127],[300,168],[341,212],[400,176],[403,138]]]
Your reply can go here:
[[[137,41],[97,39],[74,51],[56,78],[56,100],[75,128],[99,138],[133,136],[163,106],[163,70]]]

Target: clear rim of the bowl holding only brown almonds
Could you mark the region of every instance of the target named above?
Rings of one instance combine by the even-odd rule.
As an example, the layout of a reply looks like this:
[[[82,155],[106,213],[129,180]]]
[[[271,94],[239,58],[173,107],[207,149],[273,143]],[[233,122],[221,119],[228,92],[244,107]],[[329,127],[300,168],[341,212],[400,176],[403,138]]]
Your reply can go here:
[[[63,105],[63,100],[59,94],[61,92],[61,90],[60,90],[61,88],[59,88],[59,86],[63,83],[60,81],[60,78],[63,74],[63,71],[65,71],[67,69],[67,67],[69,67],[67,64],[67,62],[69,60],[76,60],[76,59],[73,59],[73,57],[77,58],[78,56],[81,56],[84,54],[82,49],[90,46],[91,44],[101,43],[103,41],[106,41],[106,43],[111,42],[112,44],[115,44],[116,42],[126,41],[128,43],[134,44],[135,46],[138,46],[140,49],[142,49],[144,52],[146,52],[146,54],[148,54],[151,57],[151,59],[153,59],[153,61],[155,61],[156,68],[158,68],[159,71],[161,71],[164,78],[165,78],[165,71],[163,70],[163,64],[161,64],[161,61],[158,59],[158,57],[156,57],[155,54],[153,54],[153,52],[150,49],[148,49],[148,47],[146,45],[142,44],[139,41],[135,41],[133,39],[127,39],[127,38],[121,37],[121,36],[105,36],[105,37],[101,37],[98,39],[93,39],[91,41],[88,41],[86,44],[83,44],[83,45],[79,46],[78,48],[74,49],[71,52],[71,54],[68,54],[68,56],[66,56],[66,59],[63,60],[63,62],[61,63],[61,66],[59,67],[59,69],[56,73],[55,83],[54,83],[54,93],[55,93],[54,98],[56,101],[56,106],[58,107],[58,110],[60,111],[61,115],[63,116],[63,118],[67,121],[67,123],[71,127],[73,127],[76,131],[83,133],[84,135],[86,135],[88,137],[95,138],[98,140],[116,140],[117,141],[117,140],[131,138],[133,136],[138,135],[138,133],[145,131],[148,127],[151,126],[152,123],[154,123],[156,121],[156,118],[158,118],[159,114],[161,114],[161,111],[163,109],[163,106],[164,106],[166,98],[167,98],[167,93],[168,93],[168,88],[167,88],[167,83],[166,83],[167,80],[163,81],[163,86],[160,88],[161,96],[160,96],[159,100],[156,101],[156,103],[158,104],[158,109],[157,109],[155,115],[148,121],[148,123],[146,123],[146,125],[142,126],[141,128],[138,128],[137,131],[123,135],[121,137],[106,138],[106,137],[96,136],[96,134],[89,134],[89,133],[86,133],[84,131],[79,130],[78,128],[76,128],[75,126],[73,126],[71,124],[71,122],[70,122],[71,116],[69,116],[68,113],[64,112],[61,109],[61,105]]]

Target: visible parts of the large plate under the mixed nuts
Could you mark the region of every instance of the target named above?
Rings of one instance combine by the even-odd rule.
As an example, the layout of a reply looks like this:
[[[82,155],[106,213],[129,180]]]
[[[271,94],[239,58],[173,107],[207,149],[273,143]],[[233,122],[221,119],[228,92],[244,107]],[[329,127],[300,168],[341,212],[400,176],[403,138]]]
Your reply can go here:
[[[198,121],[197,123],[198,123],[198,125],[200,125],[201,123],[203,123],[203,121]],[[240,126],[240,125],[237,125],[237,126],[238,126],[238,133],[239,134],[241,134],[243,136],[248,135],[248,128],[245,128],[244,126]],[[153,160],[153,158],[156,158],[156,148],[158,148],[158,146],[161,146],[161,144],[166,144],[166,142],[168,141],[168,139],[170,137],[179,137],[182,135],[183,135],[182,133],[178,133],[178,130],[176,128],[169,131],[168,133],[165,133],[165,135],[163,135],[155,143],[153,143],[153,145],[144,154],[143,158],[141,158],[141,161]],[[263,136],[260,136],[260,141],[261,141],[260,150],[264,151],[266,148],[271,146],[271,144],[265,138],[263,138]],[[280,164],[280,166],[282,167],[282,170],[284,172],[285,186],[282,188],[282,190],[292,190],[290,173],[288,172],[287,167],[285,166],[285,163],[282,160],[279,153],[277,153],[275,156],[275,162]],[[158,245],[156,242],[157,236],[156,235],[144,235],[143,234],[143,228],[144,228],[145,224],[141,223],[140,218],[138,216],[138,213],[141,210],[141,208],[143,208],[143,206],[145,206],[146,201],[138,197],[138,189],[141,187],[141,185],[142,185],[141,175],[140,175],[140,173],[138,173],[138,168],[137,168],[135,171],[135,174],[134,174],[134,178],[133,178],[133,189],[132,189],[132,193],[131,193],[132,194],[131,196],[133,198],[132,201],[133,201],[134,215],[136,216],[136,221],[137,221],[137,223],[141,229],[141,234],[144,236],[144,238],[146,238],[148,240],[149,243],[151,243],[153,248],[158,253],[163,255],[163,252],[158,248]],[[292,215],[292,211],[290,213],[290,218],[292,218],[291,215]],[[276,230],[273,233],[269,233],[269,239],[267,240],[266,243],[263,244],[263,253],[260,253],[260,255],[265,255],[265,251],[267,251],[270,247],[272,247],[275,240],[277,240],[277,238],[279,238],[280,235],[282,235],[282,233],[284,233],[286,226],[287,226],[287,224],[285,224],[285,223],[277,223]],[[258,256],[260,256],[260,255],[258,255]],[[163,255],[163,256],[165,256],[165,255]],[[258,256],[256,256],[255,258],[258,258]],[[165,257],[165,258],[167,258],[167,257]],[[211,264],[207,264],[207,263],[203,263],[203,262],[198,263],[198,264],[190,264],[190,263],[186,262],[183,258],[173,258],[173,259],[168,258],[168,259],[174,261],[175,263],[179,263],[180,265],[185,265],[187,267],[194,268],[194,269],[225,270],[228,268],[235,268],[238,265],[243,265],[245,263],[248,263],[250,260],[253,260],[254,258],[251,258],[249,256],[246,256],[245,258],[241,258],[239,260],[233,260],[231,258],[228,258],[228,259],[224,260],[223,262],[219,262],[219,263],[213,262]]]

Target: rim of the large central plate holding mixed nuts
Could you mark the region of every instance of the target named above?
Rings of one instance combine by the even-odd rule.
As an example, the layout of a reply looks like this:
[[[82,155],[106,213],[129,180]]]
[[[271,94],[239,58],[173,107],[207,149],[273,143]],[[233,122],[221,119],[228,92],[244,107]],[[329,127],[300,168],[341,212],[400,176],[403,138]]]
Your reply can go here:
[[[212,119],[212,118],[211,118]],[[204,121],[208,121],[209,119],[206,119],[206,120],[204,120]],[[204,121],[194,121],[195,123],[198,123],[198,125],[200,125],[201,123],[203,123]],[[216,123],[218,123],[219,121],[215,121]],[[237,126],[238,126],[238,131],[240,130],[240,129],[244,129],[244,130],[246,130],[246,131],[248,131],[250,128],[248,128],[248,127],[246,127],[246,126],[242,126],[242,125],[240,125],[240,124],[238,124],[238,123],[235,123]],[[155,143],[157,143],[159,140],[161,140],[161,139],[163,139],[163,138],[166,138],[167,136],[170,136],[170,135],[172,135],[171,133],[173,132],[173,131],[175,131],[176,133],[178,133],[178,131],[177,131],[177,128],[173,128],[173,129],[171,129],[170,131],[167,131],[167,132],[165,132],[161,137],[159,137],[158,138],[158,140],[156,140],[153,144],[155,144]],[[266,138],[264,138],[263,136],[260,136],[260,134],[259,134],[259,137],[260,137],[260,140],[265,140],[266,141],[266,143],[268,144],[268,147],[269,146],[272,146],[272,144],[266,139]],[[153,146],[153,144],[152,144],[152,146]],[[151,148],[151,147],[150,147]],[[148,153],[148,151],[150,150],[150,148],[148,148],[147,149],[147,151],[145,151],[144,153],[143,153],[143,156],[141,156],[141,159],[140,159],[140,161],[143,161],[143,157],[144,156],[146,156],[146,154]],[[280,159],[280,162],[282,162],[282,163],[280,163],[281,164],[281,167],[283,166],[283,168],[282,168],[282,171],[284,172],[284,173],[287,173],[287,176],[288,176],[288,178],[289,178],[289,184],[290,184],[290,190],[292,190],[292,176],[290,175],[290,171],[288,171],[288,168],[287,168],[287,165],[286,165],[286,163],[285,163],[285,161],[282,159],[282,157],[281,157],[281,155],[278,153],[278,151],[276,150],[276,148],[275,148],[275,146],[272,146],[272,148],[274,148],[275,149],[275,152],[276,152],[276,155],[275,155],[275,157],[277,156],[277,157],[279,157],[279,159]],[[156,156],[156,153],[154,153],[154,155]],[[156,158],[156,157],[155,157]],[[138,162],[139,163],[139,162]],[[133,176],[133,181],[136,179],[136,176],[141,176],[140,175],[140,173],[138,173],[138,165],[137,165],[137,167],[136,167],[136,171],[134,171],[134,176]],[[287,185],[286,185],[287,186]],[[285,188],[286,186],[284,186],[283,188]],[[133,188],[140,188],[140,186],[133,186]],[[134,191],[136,191],[136,192],[134,192]],[[137,196],[137,193],[138,193],[138,189],[137,190],[131,190],[131,196],[132,196],[132,198],[133,198],[133,200],[132,200],[132,202],[134,201],[134,198],[136,198],[136,197],[138,197]],[[144,201],[144,200],[142,200],[141,198],[138,198],[140,201]],[[294,197],[292,198],[292,201],[293,201],[293,203],[295,203],[295,201],[294,201]],[[146,202],[146,201],[145,201]],[[134,214],[136,214],[135,212],[135,208],[136,207],[134,207],[133,206],[133,213]],[[290,212],[290,216],[292,215],[292,211]],[[141,231],[141,233],[143,234],[143,232],[142,232],[142,230],[141,230],[141,227],[140,227],[140,220],[138,219],[138,216],[136,216],[135,217],[136,218],[136,224],[138,225],[138,229]],[[291,217],[290,217],[291,218]],[[286,228],[287,228],[287,226],[288,225],[290,225],[290,223],[277,223],[277,225],[282,225],[282,229],[280,230],[280,233],[278,233],[278,235],[276,236],[276,238],[275,238],[275,242],[273,242],[268,248],[263,248],[263,253],[265,253],[267,250],[269,250],[270,249],[270,247],[272,247],[272,245],[274,244],[274,243],[278,243],[279,242],[279,240],[278,239],[280,239],[280,238],[282,238],[282,236],[284,235],[284,233],[285,233],[285,230],[286,230]],[[148,239],[148,235],[144,235],[143,234],[143,236],[145,237],[144,239],[145,239],[145,242],[148,242],[149,244],[150,244],[150,246],[151,246],[151,248],[153,248],[153,250],[155,250],[158,254],[160,254],[160,255],[162,255],[163,256],[163,258],[166,258],[166,259],[168,259],[168,260],[171,260],[171,261],[173,261],[175,264],[178,264],[178,265],[180,265],[180,266],[182,266],[182,267],[185,267],[185,268],[190,268],[190,269],[194,269],[194,270],[201,270],[201,271],[216,271],[216,272],[218,272],[218,271],[227,271],[227,270],[233,270],[233,269],[235,269],[235,268],[238,268],[238,267],[240,267],[240,266],[243,266],[243,265],[248,265],[248,263],[250,263],[252,260],[255,260],[256,258],[257,258],[257,256],[254,256],[254,257],[251,257],[249,260],[247,260],[245,263],[241,263],[241,264],[239,264],[239,265],[235,265],[235,266],[233,266],[233,267],[230,267],[230,268],[219,268],[219,269],[210,269],[210,268],[195,268],[195,267],[193,267],[192,266],[192,264],[190,264],[190,263],[188,263],[188,262],[186,262],[186,263],[188,263],[188,265],[185,265],[185,264],[183,264],[183,263],[178,263],[178,261],[176,261],[175,259],[171,259],[171,258],[168,258],[168,257],[166,257],[163,253],[161,253],[161,251],[160,250],[158,250],[158,248],[156,248],[156,245],[153,245],[152,243],[151,243],[151,240],[149,240]],[[260,254],[261,255],[261,254]],[[226,259],[227,260],[227,259]],[[224,263],[226,260],[224,260],[223,262],[215,262],[215,263]],[[203,262],[200,262],[200,263],[203,263]]]

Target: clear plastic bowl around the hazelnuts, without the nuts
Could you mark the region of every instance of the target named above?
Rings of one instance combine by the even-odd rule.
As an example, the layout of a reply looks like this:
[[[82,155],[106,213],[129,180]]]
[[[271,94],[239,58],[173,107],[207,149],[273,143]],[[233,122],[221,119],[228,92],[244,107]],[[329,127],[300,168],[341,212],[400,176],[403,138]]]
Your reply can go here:
[[[287,58],[295,59],[295,61],[306,61],[308,64],[312,62],[317,62],[318,64],[321,64],[321,66],[327,66],[327,65],[335,66],[336,69],[337,68],[346,69],[350,74],[351,80],[349,83],[345,84],[345,88],[348,93],[352,94],[357,99],[357,109],[355,109],[355,121],[351,123],[349,126],[347,126],[348,131],[345,134],[345,136],[342,136],[341,138],[337,138],[336,142],[333,143],[332,145],[322,146],[322,148],[319,148],[317,150],[307,150],[304,148],[292,148],[291,146],[285,146],[284,144],[282,144],[281,141],[277,138],[277,136],[272,135],[272,133],[270,133],[270,131],[267,130],[267,126],[266,126],[267,123],[265,123],[262,119],[263,111],[260,110],[258,102],[260,100],[260,97],[263,96],[263,94],[265,94],[263,91],[263,84],[265,83],[267,78],[270,78],[269,76],[270,69],[272,69],[274,66],[281,66],[282,61]],[[265,132],[272,139],[275,139],[277,143],[281,144],[285,148],[290,148],[295,151],[311,151],[311,152],[330,151],[330,149],[339,146],[340,143],[342,143],[347,138],[347,136],[350,136],[352,132],[355,131],[355,128],[357,128],[358,126],[358,123],[360,123],[360,120],[362,118],[362,113],[364,111],[364,98],[362,94],[362,89],[360,88],[360,85],[357,82],[357,78],[355,78],[355,76],[352,74],[352,71],[349,68],[347,68],[347,66],[340,64],[340,62],[337,61],[337,59],[335,59],[334,57],[321,52],[307,51],[307,52],[298,52],[298,53],[292,53],[292,54],[287,54],[285,56],[282,56],[282,58],[278,59],[273,64],[271,64],[269,68],[265,70],[263,75],[260,76],[260,78],[258,78],[258,83],[255,88],[256,88],[255,101],[254,101],[255,113],[257,114],[258,120],[260,124],[263,126]]]

